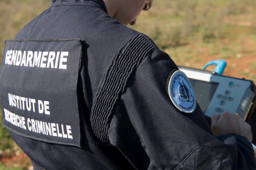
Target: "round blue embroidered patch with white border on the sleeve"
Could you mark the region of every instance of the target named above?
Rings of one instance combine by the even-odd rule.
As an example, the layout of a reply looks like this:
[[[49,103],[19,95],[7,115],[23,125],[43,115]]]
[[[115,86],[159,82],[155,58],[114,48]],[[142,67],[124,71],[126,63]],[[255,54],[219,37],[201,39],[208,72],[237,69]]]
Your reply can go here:
[[[184,113],[192,113],[196,108],[196,98],[191,83],[185,73],[177,70],[169,79],[168,94],[174,106]]]

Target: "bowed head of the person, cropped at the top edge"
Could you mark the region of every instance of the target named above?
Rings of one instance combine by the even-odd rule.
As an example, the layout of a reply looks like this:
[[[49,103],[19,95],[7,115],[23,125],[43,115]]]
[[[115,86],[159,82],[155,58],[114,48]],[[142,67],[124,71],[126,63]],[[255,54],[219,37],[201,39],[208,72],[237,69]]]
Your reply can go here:
[[[108,13],[123,25],[134,25],[142,10],[148,10],[153,0],[103,0]]]

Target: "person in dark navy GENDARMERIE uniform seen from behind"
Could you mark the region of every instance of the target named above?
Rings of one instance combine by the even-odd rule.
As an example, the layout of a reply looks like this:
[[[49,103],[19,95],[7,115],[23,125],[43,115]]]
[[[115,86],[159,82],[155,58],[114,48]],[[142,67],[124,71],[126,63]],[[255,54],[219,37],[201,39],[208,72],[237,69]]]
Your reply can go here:
[[[140,11],[151,3],[52,0],[50,8],[27,24],[11,44],[6,42],[2,69],[6,75],[19,76],[15,83],[1,85],[11,87],[8,95],[1,94],[3,124],[35,169],[256,169],[250,126],[237,115],[217,115],[212,117],[212,130],[219,136],[214,136],[185,74],[150,38],[125,26],[135,24]],[[80,51],[73,46],[81,47]],[[15,48],[18,54],[20,48],[26,64],[19,64],[16,53],[10,54]],[[40,51],[41,62],[37,62]],[[72,65],[78,74],[68,70],[71,58],[79,63]],[[27,81],[33,74],[36,85]],[[70,75],[77,75],[76,82],[67,81]],[[10,77],[3,76],[4,82]],[[66,88],[67,84],[74,86]],[[16,89],[23,91],[19,94]],[[56,96],[69,91],[74,92],[70,98]],[[19,113],[14,94],[15,99],[23,96],[19,101],[26,104],[31,101],[31,107],[35,98],[35,113],[26,111],[26,106]],[[6,102],[5,96],[9,96]],[[76,99],[78,117],[76,111],[65,111],[75,106]],[[26,129],[17,124],[18,118],[16,124],[12,121],[14,115],[24,117],[20,122]],[[51,128],[49,134],[46,126]]]

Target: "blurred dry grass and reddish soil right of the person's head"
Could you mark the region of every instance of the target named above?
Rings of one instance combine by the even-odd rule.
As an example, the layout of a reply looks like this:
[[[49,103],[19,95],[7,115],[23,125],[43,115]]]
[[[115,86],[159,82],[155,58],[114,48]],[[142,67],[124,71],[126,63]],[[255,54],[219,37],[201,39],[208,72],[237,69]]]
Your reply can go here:
[[[202,69],[225,59],[225,75],[256,82],[255,23],[255,0],[158,0],[130,27],[147,34],[177,65]]]

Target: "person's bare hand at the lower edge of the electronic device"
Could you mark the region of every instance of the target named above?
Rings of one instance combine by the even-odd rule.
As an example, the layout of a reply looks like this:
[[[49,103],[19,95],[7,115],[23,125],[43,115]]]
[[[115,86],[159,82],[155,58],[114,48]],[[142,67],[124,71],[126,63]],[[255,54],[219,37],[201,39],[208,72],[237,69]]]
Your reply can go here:
[[[211,129],[214,135],[237,134],[252,142],[251,125],[245,122],[237,113],[219,113],[211,118]]]

